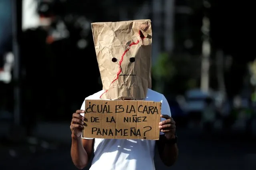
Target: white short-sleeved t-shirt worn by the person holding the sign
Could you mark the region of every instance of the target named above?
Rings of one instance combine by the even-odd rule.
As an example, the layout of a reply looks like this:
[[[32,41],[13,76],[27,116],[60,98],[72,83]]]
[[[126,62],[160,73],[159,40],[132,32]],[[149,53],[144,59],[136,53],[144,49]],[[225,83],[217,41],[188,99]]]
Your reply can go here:
[[[85,99],[100,99],[103,92],[99,91]],[[161,93],[148,89],[147,98],[144,100],[161,101],[161,113],[171,116],[169,104]],[[81,110],[85,110],[85,101]],[[81,115],[84,116],[84,113]],[[161,121],[163,120],[165,119],[161,118]],[[95,138],[94,154],[90,170],[155,170],[155,140]]]

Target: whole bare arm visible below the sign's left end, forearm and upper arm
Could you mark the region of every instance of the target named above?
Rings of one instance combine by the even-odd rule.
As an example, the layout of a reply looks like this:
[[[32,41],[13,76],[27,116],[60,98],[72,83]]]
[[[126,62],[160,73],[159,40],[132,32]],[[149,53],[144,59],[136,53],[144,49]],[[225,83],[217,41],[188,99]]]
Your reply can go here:
[[[82,139],[72,137],[71,158],[79,169],[85,168],[90,161],[93,152],[94,139]]]

